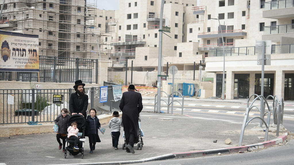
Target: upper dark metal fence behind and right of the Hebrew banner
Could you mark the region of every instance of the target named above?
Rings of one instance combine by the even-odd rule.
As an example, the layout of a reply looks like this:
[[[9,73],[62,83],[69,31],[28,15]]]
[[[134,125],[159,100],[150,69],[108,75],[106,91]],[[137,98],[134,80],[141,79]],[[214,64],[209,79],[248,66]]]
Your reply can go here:
[[[98,83],[98,59],[39,56],[39,72],[0,71],[0,80],[24,82]]]

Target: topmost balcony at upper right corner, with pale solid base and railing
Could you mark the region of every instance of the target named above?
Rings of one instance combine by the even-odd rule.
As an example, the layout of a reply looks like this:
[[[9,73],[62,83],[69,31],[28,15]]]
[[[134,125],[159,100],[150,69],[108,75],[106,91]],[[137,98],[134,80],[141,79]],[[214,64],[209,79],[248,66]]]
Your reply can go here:
[[[265,2],[265,10],[262,13],[263,18],[290,18],[294,17],[294,1],[280,0]]]

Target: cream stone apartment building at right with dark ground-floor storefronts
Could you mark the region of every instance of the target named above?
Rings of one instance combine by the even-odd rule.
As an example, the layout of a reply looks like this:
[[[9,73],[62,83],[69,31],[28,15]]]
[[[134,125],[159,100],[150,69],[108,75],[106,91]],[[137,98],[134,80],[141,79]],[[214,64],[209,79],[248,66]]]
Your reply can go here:
[[[271,63],[265,66],[264,96],[294,100],[294,1],[206,0],[201,22],[192,41],[206,57],[206,72],[214,73],[213,95],[221,97],[223,79],[223,32],[225,46],[225,97],[247,98],[261,92],[261,65],[257,64],[257,40],[270,40]],[[219,18],[220,28],[218,20]],[[220,30],[221,29],[221,30]],[[194,31],[193,31],[194,33]],[[197,36],[197,37],[196,37]],[[194,39],[194,40],[193,40]],[[188,38],[190,40],[190,38]]]

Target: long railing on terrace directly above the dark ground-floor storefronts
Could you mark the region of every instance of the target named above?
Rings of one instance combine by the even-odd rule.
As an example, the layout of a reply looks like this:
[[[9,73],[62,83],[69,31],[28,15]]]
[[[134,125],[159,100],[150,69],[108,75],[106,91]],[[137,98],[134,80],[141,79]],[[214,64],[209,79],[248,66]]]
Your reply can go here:
[[[272,45],[271,54],[294,53],[294,44]],[[225,56],[255,55],[255,46],[225,48]],[[210,49],[209,57],[223,56],[223,48]]]

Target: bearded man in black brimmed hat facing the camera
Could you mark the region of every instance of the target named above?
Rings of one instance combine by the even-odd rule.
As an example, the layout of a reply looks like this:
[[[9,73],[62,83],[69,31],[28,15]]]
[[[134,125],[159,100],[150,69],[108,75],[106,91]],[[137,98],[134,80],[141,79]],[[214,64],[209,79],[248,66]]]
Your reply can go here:
[[[88,108],[88,95],[85,94],[85,84],[82,80],[74,82],[74,90],[76,93],[71,94],[69,99],[69,111],[71,115],[80,114],[86,118],[86,110]]]

